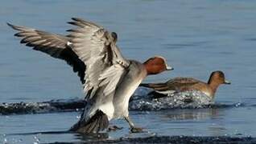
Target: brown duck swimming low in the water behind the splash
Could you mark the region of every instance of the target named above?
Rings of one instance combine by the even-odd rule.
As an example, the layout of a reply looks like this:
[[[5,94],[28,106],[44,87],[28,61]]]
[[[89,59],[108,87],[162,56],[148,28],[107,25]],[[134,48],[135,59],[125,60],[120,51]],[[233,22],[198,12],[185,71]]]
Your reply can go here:
[[[218,86],[221,84],[230,84],[230,82],[225,79],[225,74],[222,71],[213,71],[207,83],[195,78],[178,77],[171,78],[164,83],[142,83],[140,86],[154,89],[155,91],[151,92],[154,98],[166,97],[167,94],[174,92],[199,90],[213,99]]]

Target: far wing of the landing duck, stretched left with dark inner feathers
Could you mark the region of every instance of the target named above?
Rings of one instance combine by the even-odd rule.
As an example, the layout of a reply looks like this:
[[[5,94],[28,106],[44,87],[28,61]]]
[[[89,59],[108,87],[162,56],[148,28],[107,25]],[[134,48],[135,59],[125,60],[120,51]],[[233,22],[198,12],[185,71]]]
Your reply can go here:
[[[23,38],[21,43],[33,47],[33,50],[42,51],[53,58],[60,58],[68,62],[73,71],[78,73],[81,82],[85,83],[85,63],[81,62],[78,56],[67,46],[70,38],[60,34],[51,34],[41,30],[7,24],[14,30],[19,30],[19,33],[14,35]]]

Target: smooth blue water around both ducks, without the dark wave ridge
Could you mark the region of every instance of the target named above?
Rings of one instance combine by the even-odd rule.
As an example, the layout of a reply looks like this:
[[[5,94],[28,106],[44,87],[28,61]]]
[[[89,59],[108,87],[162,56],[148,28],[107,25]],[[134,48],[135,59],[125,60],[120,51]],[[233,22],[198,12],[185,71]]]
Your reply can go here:
[[[65,62],[20,45],[13,37],[14,31],[6,26],[6,22],[12,22],[64,34],[70,28],[65,22],[80,17],[117,32],[118,46],[126,58],[145,61],[162,55],[175,68],[170,73],[151,76],[145,82],[176,76],[207,81],[213,70],[223,70],[232,82],[217,91],[215,108],[134,110],[130,112],[131,118],[148,132],[130,134],[126,122],[116,120],[112,123],[124,129],[109,133],[109,139],[154,134],[256,137],[255,15],[256,2],[247,0],[3,1],[0,5],[0,102],[83,98],[79,79]],[[242,106],[236,106],[237,103]],[[86,141],[88,137],[62,133],[78,120],[80,113],[80,110],[65,113],[56,110],[0,115],[0,142]],[[59,133],[39,134],[45,131]]]

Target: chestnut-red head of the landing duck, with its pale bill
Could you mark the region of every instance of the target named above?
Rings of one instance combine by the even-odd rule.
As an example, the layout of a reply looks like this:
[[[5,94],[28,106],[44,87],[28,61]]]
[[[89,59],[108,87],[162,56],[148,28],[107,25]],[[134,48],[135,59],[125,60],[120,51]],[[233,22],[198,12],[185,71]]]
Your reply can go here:
[[[167,65],[165,58],[159,56],[149,58],[143,64],[146,67],[147,74],[159,74],[165,70],[173,70],[171,66]]]

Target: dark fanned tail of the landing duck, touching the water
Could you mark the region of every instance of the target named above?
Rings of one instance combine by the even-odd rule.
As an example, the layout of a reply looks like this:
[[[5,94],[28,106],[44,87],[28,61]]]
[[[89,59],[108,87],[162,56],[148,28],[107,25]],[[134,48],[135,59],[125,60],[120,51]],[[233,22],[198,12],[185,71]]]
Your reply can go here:
[[[83,115],[83,114],[82,114]],[[78,133],[98,133],[99,131],[105,130],[109,127],[109,119],[106,114],[101,110],[97,110],[93,117],[89,118],[86,122],[81,118],[72,128],[71,131]]]

